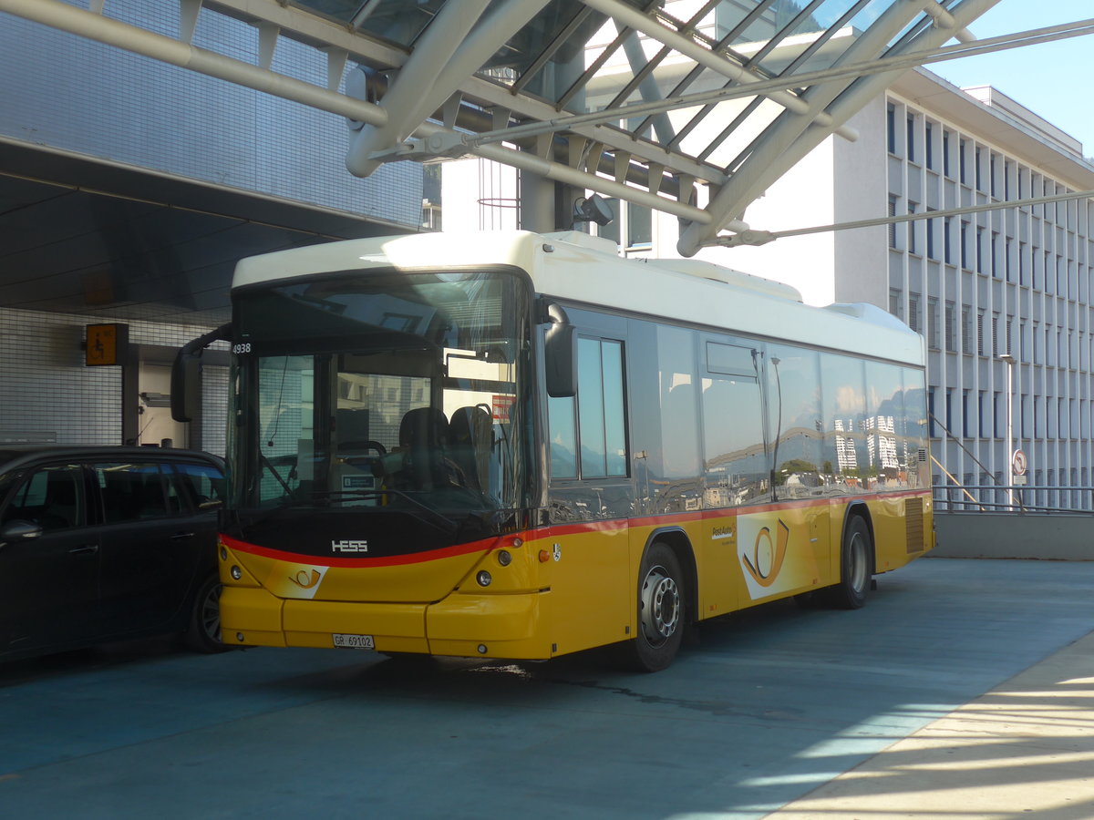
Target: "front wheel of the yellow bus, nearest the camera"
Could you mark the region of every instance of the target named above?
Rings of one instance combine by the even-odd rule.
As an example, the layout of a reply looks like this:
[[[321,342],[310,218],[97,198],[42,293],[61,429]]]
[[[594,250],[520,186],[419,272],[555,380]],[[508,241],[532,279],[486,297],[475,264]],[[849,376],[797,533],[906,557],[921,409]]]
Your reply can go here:
[[[684,637],[684,589],[676,553],[668,544],[654,541],[638,573],[638,634],[626,644],[628,666],[655,672],[673,663]]]

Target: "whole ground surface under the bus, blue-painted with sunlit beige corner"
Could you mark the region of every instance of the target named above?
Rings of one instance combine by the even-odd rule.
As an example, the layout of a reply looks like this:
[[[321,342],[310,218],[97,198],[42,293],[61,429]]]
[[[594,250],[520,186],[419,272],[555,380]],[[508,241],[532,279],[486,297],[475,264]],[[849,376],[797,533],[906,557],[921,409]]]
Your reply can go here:
[[[144,642],[0,666],[0,816],[1094,818],[1094,562],[924,559],[859,611],[403,663]]]

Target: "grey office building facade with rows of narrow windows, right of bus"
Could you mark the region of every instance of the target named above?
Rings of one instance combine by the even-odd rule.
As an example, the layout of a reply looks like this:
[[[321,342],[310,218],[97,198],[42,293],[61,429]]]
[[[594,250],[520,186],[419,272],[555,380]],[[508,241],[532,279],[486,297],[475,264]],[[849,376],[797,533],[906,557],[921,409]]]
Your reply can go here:
[[[1003,206],[887,230],[886,306],[927,339],[941,497],[1009,505],[1022,449],[1024,504],[1092,508],[1094,201],[1004,203],[1094,189],[1094,166],[998,91],[926,72],[884,116],[888,213]]]

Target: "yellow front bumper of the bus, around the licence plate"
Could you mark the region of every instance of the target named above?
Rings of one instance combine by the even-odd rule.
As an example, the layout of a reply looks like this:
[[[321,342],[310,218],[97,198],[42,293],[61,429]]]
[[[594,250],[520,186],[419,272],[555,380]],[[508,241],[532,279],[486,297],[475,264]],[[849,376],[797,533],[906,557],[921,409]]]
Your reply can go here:
[[[468,595],[435,604],[282,599],[263,588],[224,586],[226,645],[335,646],[336,634],[368,635],[384,653],[544,660],[552,657],[543,613],[549,591]]]

